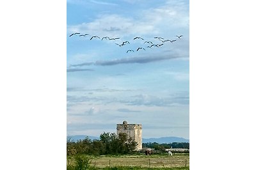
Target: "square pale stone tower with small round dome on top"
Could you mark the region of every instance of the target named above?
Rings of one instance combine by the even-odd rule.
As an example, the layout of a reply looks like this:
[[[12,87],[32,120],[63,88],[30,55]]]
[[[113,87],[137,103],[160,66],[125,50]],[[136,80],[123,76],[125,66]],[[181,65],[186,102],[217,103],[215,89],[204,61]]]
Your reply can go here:
[[[127,124],[126,121],[123,124],[116,124],[116,135],[125,133],[128,138],[133,139],[138,143],[135,150],[142,150],[142,126],[141,124]]]

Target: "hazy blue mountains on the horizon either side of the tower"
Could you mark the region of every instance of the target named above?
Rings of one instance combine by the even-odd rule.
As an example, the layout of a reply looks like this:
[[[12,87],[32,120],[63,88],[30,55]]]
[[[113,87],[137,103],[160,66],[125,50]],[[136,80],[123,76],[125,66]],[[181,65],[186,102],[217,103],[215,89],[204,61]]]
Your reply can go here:
[[[89,139],[100,139],[99,137],[95,136],[86,136],[86,135],[75,135],[75,136],[67,136],[67,138],[71,138],[71,141],[77,141],[79,139],[85,139],[88,137]],[[184,138],[179,138],[179,137],[162,137],[162,138],[142,138],[142,143],[173,143],[173,142],[178,142],[178,143],[189,143],[189,139],[184,139]]]

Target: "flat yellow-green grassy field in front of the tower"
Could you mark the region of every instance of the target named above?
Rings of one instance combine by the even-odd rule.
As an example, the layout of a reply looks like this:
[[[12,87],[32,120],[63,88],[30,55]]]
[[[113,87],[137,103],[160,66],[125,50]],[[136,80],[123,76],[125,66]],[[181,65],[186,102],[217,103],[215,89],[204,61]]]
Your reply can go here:
[[[123,155],[91,157],[90,167],[95,169],[189,169],[189,153],[173,153],[168,155]],[[73,164],[72,157],[68,157],[68,164]]]

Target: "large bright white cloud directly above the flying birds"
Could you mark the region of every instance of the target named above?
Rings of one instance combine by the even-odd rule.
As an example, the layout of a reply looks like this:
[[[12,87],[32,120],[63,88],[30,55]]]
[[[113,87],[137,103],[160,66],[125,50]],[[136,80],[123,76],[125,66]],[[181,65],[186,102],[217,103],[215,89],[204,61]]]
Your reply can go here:
[[[90,32],[98,36],[147,36],[161,34],[161,32],[173,31],[175,28],[188,29],[188,6],[166,3],[158,8],[141,10],[134,16],[122,16],[116,14],[98,15],[92,22],[84,22],[78,25],[69,25],[68,32]],[[150,12],[148,12],[150,11]],[[168,32],[164,32],[166,34]],[[178,34],[179,32],[173,32]]]

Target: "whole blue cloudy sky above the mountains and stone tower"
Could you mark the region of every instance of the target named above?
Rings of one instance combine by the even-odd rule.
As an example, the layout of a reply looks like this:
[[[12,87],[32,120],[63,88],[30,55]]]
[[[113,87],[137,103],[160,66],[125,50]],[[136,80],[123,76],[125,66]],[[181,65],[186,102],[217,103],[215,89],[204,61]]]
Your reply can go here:
[[[124,120],[189,139],[189,1],[67,0],[67,135]]]

